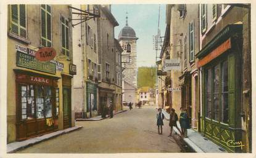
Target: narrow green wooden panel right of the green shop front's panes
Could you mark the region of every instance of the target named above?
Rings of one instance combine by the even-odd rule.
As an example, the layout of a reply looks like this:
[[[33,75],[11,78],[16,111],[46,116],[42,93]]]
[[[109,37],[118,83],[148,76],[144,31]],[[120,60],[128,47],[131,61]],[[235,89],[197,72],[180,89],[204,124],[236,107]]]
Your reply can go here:
[[[228,106],[229,106],[229,124],[235,125],[236,101],[235,101],[235,56],[228,56]]]

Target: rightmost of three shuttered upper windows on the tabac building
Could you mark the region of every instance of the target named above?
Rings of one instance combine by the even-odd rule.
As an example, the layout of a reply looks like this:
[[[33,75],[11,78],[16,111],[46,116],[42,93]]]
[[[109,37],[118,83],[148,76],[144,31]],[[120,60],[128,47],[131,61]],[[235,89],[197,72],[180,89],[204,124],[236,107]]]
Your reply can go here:
[[[69,27],[68,20],[64,17],[61,17],[61,32],[62,32],[62,54],[67,55],[69,57]]]

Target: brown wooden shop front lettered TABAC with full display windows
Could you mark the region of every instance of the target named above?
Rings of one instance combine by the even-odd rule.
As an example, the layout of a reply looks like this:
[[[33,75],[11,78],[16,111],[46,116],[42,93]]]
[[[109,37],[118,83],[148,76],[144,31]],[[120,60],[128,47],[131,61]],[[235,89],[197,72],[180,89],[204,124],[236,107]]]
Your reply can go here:
[[[16,83],[17,140],[58,129],[58,77],[14,69]]]

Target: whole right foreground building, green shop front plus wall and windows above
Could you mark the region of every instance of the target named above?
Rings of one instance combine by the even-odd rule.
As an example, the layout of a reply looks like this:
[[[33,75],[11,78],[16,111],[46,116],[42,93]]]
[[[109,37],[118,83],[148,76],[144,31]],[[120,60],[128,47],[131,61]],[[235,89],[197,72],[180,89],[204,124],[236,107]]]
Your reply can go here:
[[[200,5],[196,57],[202,76],[202,131],[229,152],[251,149],[249,9],[247,4]],[[230,141],[244,146],[228,146]]]

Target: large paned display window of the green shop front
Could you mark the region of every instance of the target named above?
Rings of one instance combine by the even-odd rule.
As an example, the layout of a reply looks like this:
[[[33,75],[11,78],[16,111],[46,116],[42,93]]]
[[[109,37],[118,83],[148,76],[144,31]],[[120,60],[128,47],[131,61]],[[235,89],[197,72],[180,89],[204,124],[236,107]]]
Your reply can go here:
[[[205,116],[229,123],[228,60],[205,71]]]

